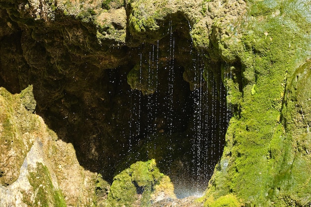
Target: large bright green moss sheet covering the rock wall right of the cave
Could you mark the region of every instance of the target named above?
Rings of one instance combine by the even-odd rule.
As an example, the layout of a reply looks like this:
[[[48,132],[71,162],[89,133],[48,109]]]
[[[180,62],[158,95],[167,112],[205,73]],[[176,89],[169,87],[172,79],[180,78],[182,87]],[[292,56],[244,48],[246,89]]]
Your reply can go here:
[[[211,39],[214,41],[213,47],[219,48],[225,62],[233,62],[231,65],[240,62],[240,65],[235,63],[240,68],[235,67],[231,72],[241,76],[236,81],[228,78],[228,75],[223,78],[229,86],[227,99],[239,101],[235,102],[237,112],[233,112],[221,161],[223,163],[227,160],[228,167],[226,170],[217,168],[207,195],[219,198],[234,193],[250,206],[271,206],[280,198],[284,201],[280,205],[289,205],[289,201],[304,205],[302,200],[308,201],[306,195],[309,193],[309,181],[298,183],[302,178],[309,177],[309,169],[303,167],[308,165],[308,158],[301,158],[301,154],[295,149],[298,147],[297,142],[305,143],[302,140],[306,140],[299,139],[300,136],[296,136],[296,133],[308,130],[309,120],[305,118],[303,121],[302,114],[310,113],[306,104],[307,96],[310,98],[310,95],[305,96],[302,101],[304,105],[296,99],[299,97],[296,92],[301,89],[290,90],[296,94],[292,99],[293,105],[290,102],[284,104],[284,98],[287,97],[285,82],[288,75],[294,72],[297,63],[309,56],[306,49],[310,39],[304,33],[306,30],[310,31],[310,23],[306,20],[307,23],[303,26],[297,22],[296,17],[292,18],[290,8],[294,13],[298,8],[303,8],[294,1],[250,1],[248,5],[245,20],[238,23],[239,29],[233,28],[233,34],[237,35],[222,33],[219,37],[215,34],[215,40]],[[285,15],[285,10],[292,14]],[[305,21],[305,17],[301,19]],[[224,28],[224,25],[219,25],[219,28]],[[293,46],[294,42],[296,46]],[[230,69],[224,67],[223,71]],[[308,73],[302,76],[307,77]],[[303,82],[310,81],[306,79],[301,82],[304,85],[301,88],[309,88]],[[234,87],[236,93],[233,93]],[[302,121],[297,122],[299,120]],[[299,146],[302,152],[305,151],[304,148],[308,148],[306,144]],[[298,190],[298,185],[306,188]]]

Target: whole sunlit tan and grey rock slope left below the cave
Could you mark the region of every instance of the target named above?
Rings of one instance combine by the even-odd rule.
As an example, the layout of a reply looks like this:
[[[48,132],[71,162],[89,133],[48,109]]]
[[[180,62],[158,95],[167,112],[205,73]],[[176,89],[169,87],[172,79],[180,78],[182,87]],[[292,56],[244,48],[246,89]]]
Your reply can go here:
[[[32,86],[12,95],[0,88],[0,206],[95,206],[95,173],[78,163],[34,109]]]

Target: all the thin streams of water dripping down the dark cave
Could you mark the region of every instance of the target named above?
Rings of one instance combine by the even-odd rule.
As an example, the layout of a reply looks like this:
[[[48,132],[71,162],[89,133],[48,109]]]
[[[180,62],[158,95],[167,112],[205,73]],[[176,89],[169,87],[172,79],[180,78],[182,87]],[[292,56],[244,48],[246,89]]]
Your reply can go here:
[[[191,29],[191,28],[190,28]],[[176,89],[174,87],[175,76],[177,76],[175,60],[175,34],[173,33],[172,22],[169,22],[169,49],[166,57],[161,57],[166,62],[166,66],[161,69],[159,73],[159,41],[155,44],[142,44],[139,47],[139,84],[148,83],[147,91],[152,91],[154,94],[146,96],[142,95],[141,91],[133,91],[130,93],[130,108],[131,117],[129,121],[130,138],[129,150],[133,149],[133,144],[139,143],[139,138],[146,138],[147,143],[154,142],[149,149],[156,149],[156,141],[152,140],[155,134],[166,134],[168,136],[167,152],[168,157],[165,164],[170,173],[170,166],[172,164],[172,155],[174,143],[172,137],[174,136],[177,126],[174,117],[174,106],[176,106],[177,98]],[[177,47],[176,47],[177,48]],[[177,51],[177,49],[176,49]],[[229,93],[228,84],[222,84],[222,81],[217,79],[220,75],[214,76],[213,71],[207,69],[204,62],[204,54],[202,51],[196,51],[192,45],[190,47],[190,54],[192,58],[193,76],[193,117],[191,121],[193,126],[190,127],[191,132],[187,132],[186,136],[191,138],[191,178],[193,178],[193,188],[191,191],[195,194],[201,194],[207,187],[208,181],[213,173],[213,168],[221,157],[224,148],[224,137],[227,130],[228,122],[231,118],[231,104],[226,103],[226,97]],[[177,55],[176,55],[177,57]],[[177,57],[178,58],[178,57]],[[177,59],[176,58],[176,59]],[[178,60],[178,59],[177,59]],[[162,61],[162,59],[161,59]],[[147,68],[148,67],[148,68]],[[148,74],[146,73],[148,71]],[[227,71],[227,70],[226,70]],[[164,87],[164,96],[158,96],[157,85],[158,75],[167,75],[167,88]],[[147,75],[148,76],[147,76]],[[232,79],[231,71],[225,72],[224,79]],[[177,76],[178,77],[178,76]],[[148,80],[144,79],[148,78]],[[176,79],[177,80],[177,79]],[[146,85],[145,85],[146,87]],[[161,94],[162,95],[162,94]],[[164,99],[161,99],[163,98]],[[159,100],[158,100],[159,99]],[[161,100],[164,100],[163,102]],[[162,105],[161,105],[162,104]],[[167,109],[167,112],[160,113],[159,108]],[[143,112],[144,110],[144,112]],[[156,128],[157,117],[163,116],[166,122],[163,129]],[[146,121],[147,120],[147,121]],[[191,122],[190,121],[190,122]],[[156,131],[157,130],[157,131]],[[189,130],[189,128],[187,128]],[[145,141],[142,140],[142,141]],[[148,152],[147,152],[148,153]]]

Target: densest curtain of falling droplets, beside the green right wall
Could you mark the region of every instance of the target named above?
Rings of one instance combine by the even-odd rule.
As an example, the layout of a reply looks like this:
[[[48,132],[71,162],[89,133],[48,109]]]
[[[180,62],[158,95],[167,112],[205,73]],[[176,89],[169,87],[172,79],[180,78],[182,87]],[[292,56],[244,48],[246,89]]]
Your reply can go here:
[[[207,188],[214,167],[222,155],[224,138],[231,118],[230,104],[227,104],[227,88],[214,73],[206,69],[202,55],[190,50],[193,57],[194,113],[192,162],[194,194],[200,195]],[[203,78],[205,73],[205,79]],[[230,74],[228,74],[230,75]]]

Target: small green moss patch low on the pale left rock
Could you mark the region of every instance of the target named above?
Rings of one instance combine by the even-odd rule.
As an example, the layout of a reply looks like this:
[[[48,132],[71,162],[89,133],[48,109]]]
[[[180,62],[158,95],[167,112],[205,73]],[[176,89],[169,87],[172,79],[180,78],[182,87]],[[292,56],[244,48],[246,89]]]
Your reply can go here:
[[[29,173],[28,180],[35,192],[33,207],[66,207],[61,190],[53,186],[50,172],[42,163],[37,163],[35,171]]]

